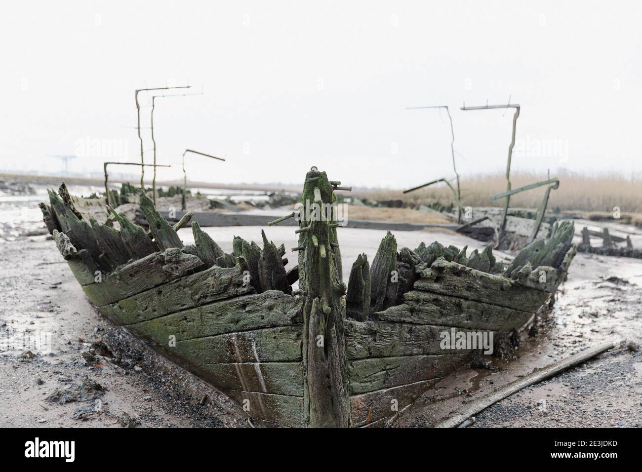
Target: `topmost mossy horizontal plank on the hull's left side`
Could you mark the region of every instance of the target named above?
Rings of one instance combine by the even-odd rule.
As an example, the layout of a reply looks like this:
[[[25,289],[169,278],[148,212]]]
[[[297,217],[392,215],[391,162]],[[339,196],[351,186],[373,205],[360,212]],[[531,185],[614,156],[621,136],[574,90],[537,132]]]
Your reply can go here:
[[[93,304],[104,306],[201,268],[203,263],[196,256],[170,248],[119,267],[114,272],[103,275],[100,283],[83,286],[83,290]]]

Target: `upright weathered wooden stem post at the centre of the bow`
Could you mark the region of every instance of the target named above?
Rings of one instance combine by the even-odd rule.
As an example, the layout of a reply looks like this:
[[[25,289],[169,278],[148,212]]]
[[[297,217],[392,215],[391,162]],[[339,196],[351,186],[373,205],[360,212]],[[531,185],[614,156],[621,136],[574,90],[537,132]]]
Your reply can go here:
[[[331,183],[317,168],[306,175],[300,212],[299,287],[303,300],[304,421],[313,428],[351,426],[343,295],[337,268],[336,203]],[[309,211],[306,211],[308,210]]]

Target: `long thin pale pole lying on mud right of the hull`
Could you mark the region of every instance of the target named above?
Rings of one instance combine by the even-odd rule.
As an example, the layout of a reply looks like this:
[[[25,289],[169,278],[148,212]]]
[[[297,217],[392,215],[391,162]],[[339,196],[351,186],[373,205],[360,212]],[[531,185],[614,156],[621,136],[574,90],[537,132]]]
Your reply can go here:
[[[613,349],[618,344],[620,344],[620,342],[607,342],[606,344],[599,345],[598,347],[594,347],[593,349],[586,349],[586,351],[582,351],[581,353],[573,354],[573,356],[570,356],[565,360],[562,360],[561,362],[551,363],[550,365],[539,369],[539,371],[535,371],[532,374],[527,375],[521,380],[509,383],[508,385],[501,387],[501,389],[497,390],[496,392],[493,392],[490,395],[474,401],[471,406],[464,410],[464,412],[445,419],[441,423],[438,423],[435,428],[456,428],[464,423],[469,417],[478,414],[482,410],[488,408],[490,405],[494,405],[494,403],[497,403],[498,401],[503,400],[516,392],[519,392],[519,390],[528,387],[529,385],[539,383],[542,380],[553,377],[562,371],[566,371],[566,369],[575,367],[575,365],[578,365],[582,362],[586,362],[587,360],[597,356],[598,354],[602,354],[604,351]],[[466,424],[465,426],[468,426],[468,424]]]

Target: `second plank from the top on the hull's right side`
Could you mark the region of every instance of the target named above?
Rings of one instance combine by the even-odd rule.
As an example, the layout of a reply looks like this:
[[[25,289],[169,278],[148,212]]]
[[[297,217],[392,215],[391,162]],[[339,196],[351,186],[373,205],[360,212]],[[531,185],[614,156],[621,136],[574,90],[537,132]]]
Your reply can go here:
[[[524,326],[533,313],[440,293],[412,290],[404,294],[403,304],[379,311],[375,316],[380,321],[388,322],[511,331]]]

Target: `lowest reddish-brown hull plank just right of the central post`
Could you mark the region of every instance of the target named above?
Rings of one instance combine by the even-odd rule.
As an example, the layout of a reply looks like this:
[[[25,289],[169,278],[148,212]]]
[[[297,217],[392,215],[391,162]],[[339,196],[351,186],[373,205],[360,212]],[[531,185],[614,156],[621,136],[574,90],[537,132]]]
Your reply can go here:
[[[433,387],[435,380],[424,380],[352,396],[352,426],[366,426],[378,419],[397,414]]]

